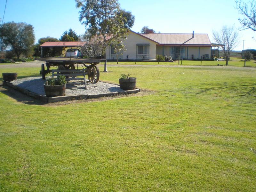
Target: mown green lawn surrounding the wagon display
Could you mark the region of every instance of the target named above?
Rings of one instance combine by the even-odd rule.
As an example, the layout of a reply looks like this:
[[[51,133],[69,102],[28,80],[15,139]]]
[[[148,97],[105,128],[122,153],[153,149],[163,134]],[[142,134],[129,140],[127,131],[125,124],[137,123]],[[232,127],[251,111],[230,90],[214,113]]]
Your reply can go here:
[[[0,191],[256,190],[254,69],[108,70],[155,93],[47,107],[0,92]]]

